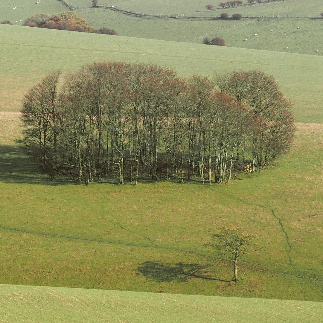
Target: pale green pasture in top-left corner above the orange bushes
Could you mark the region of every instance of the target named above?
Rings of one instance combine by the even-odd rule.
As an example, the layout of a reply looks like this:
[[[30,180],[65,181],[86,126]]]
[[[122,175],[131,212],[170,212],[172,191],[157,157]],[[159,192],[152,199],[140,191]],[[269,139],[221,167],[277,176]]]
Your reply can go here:
[[[14,25],[22,25],[26,18],[36,14],[55,15],[68,8],[57,0],[1,0],[0,21],[10,20]],[[12,9],[16,7],[16,9]],[[16,22],[17,21],[17,22]]]

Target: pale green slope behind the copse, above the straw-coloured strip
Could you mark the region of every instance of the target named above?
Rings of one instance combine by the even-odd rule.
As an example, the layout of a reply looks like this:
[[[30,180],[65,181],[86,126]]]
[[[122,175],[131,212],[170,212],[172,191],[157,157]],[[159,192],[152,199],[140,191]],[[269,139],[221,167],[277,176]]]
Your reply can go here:
[[[180,76],[260,68],[274,75],[302,122],[323,122],[323,57],[0,25],[0,110],[18,111],[26,90],[53,69],[95,60],[154,62]]]

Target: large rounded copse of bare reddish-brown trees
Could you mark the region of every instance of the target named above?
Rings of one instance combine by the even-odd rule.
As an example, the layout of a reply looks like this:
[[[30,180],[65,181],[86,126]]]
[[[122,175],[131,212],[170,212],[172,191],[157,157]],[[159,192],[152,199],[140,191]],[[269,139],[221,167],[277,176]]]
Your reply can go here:
[[[21,143],[43,172],[86,185],[106,175],[229,182],[235,167],[263,170],[293,138],[290,103],[258,70],[185,80],[153,64],[94,63],[58,92],[59,76],[26,93]]]

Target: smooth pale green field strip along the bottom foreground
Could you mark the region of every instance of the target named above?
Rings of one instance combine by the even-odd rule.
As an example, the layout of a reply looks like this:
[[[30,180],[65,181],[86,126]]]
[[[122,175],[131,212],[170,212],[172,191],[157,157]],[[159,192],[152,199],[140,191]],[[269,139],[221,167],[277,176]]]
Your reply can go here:
[[[323,303],[0,285],[2,322],[320,322]],[[50,306],[48,306],[50,304]]]

